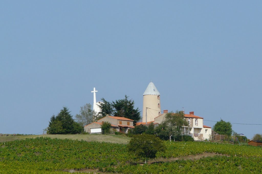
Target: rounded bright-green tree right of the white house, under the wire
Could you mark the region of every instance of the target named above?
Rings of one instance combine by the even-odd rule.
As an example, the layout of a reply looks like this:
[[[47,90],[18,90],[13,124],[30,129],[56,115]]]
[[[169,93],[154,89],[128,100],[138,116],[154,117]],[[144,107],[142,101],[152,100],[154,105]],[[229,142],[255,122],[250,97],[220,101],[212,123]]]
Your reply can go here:
[[[213,130],[220,135],[227,135],[227,136],[231,136],[233,131],[231,123],[225,122],[222,119],[220,119],[220,121],[213,126]]]

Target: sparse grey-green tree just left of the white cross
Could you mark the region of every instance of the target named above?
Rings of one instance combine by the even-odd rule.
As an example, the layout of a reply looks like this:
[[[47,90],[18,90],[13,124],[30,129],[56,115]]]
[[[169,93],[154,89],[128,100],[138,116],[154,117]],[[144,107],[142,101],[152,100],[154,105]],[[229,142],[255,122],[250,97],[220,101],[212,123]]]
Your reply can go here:
[[[80,107],[79,114],[75,115],[75,120],[81,125],[85,126],[93,122],[96,112],[92,109],[90,103]]]

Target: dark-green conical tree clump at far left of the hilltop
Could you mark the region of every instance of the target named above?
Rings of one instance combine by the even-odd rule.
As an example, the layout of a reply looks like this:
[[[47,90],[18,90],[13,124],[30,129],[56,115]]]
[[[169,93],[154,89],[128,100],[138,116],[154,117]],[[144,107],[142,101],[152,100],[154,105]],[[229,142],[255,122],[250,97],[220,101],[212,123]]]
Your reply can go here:
[[[53,115],[47,128],[48,134],[77,134],[83,131],[83,128],[74,122],[72,115],[67,107],[63,107],[57,116]]]

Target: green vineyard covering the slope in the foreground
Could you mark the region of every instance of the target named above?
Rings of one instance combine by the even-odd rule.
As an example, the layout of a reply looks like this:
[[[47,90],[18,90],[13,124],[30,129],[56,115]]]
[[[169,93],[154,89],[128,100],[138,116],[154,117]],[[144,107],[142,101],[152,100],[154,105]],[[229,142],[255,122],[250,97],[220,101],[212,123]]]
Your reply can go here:
[[[0,143],[0,173],[262,173],[262,148],[211,142],[165,142],[160,162],[140,165],[125,144],[69,139],[15,140]],[[161,159],[202,153],[225,154],[199,160]]]

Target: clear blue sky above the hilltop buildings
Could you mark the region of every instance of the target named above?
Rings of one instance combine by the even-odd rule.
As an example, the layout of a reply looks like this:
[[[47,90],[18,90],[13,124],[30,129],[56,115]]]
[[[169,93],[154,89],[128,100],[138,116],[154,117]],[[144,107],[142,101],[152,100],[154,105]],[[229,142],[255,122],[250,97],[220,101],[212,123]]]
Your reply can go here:
[[[41,134],[67,106],[130,96],[213,126],[262,124],[262,1],[2,1],[0,133]],[[141,112],[142,114],[142,112]],[[210,120],[210,121],[206,121]],[[232,124],[248,138],[262,125]]]

